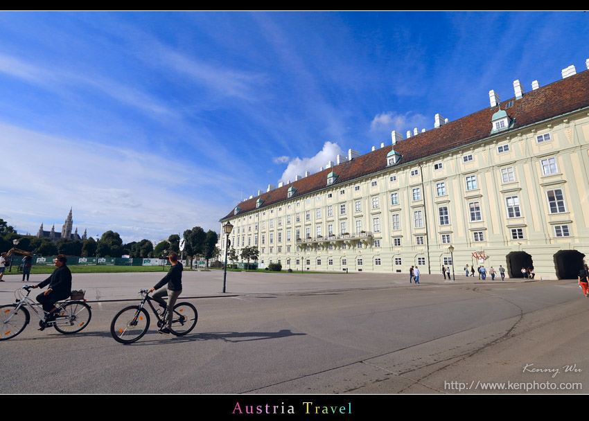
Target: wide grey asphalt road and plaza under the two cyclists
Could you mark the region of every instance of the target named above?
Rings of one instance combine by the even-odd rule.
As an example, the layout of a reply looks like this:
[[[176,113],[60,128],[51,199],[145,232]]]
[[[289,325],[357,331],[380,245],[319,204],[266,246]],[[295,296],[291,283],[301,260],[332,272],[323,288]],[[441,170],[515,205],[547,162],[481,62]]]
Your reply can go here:
[[[2,341],[1,393],[586,393],[589,299],[573,280],[185,272],[186,337],[123,346],[109,324],[159,274],[78,275],[92,320]],[[42,276],[34,280],[42,280]],[[12,302],[15,278],[1,285]],[[98,301],[96,300],[98,298]],[[491,389],[492,388],[492,389]],[[498,390],[504,388],[504,390]]]

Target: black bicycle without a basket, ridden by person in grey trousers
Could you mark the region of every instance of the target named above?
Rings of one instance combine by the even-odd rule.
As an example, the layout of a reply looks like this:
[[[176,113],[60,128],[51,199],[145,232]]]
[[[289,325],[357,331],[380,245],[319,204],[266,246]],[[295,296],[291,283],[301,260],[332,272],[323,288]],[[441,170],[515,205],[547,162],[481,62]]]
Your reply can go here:
[[[146,303],[149,304],[153,314],[155,314],[157,328],[166,325],[166,309],[162,310],[162,314],[159,314],[159,311],[152,304],[152,301],[155,300],[149,296],[147,289],[141,289],[139,294],[141,294],[141,303],[123,308],[110,323],[110,334],[117,342],[133,343],[139,341],[146,334],[150,322],[150,316],[145,309]],[[198,313],[194,305],[186,302],[177,303],[174,306],[172,328],[170,330],[176,336],[181,337],[194,329],[197,320]]]

